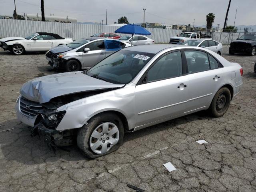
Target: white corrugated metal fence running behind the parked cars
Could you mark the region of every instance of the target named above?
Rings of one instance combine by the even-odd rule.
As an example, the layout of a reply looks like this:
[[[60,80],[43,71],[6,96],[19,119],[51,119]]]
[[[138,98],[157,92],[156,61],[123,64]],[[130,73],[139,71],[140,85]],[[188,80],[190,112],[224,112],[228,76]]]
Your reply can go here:
[[[118,26],[101,26],[76,23],[55,23],[29,20],[0,19],[0,38],[8,36],[25,37],[34,32],[52,32],[62,37],[70,37],[78,40],[82,37],[90,37],[99,32],[114,32]],[[151,32],[148,37],[156,43],[168,43],[170,37],[180,34],[182,30],[146,28]],[[122,34],[121,34],[122,35]],[[214,32],[212,38],[224,45],[230,44],[242,36],[242,33]]]

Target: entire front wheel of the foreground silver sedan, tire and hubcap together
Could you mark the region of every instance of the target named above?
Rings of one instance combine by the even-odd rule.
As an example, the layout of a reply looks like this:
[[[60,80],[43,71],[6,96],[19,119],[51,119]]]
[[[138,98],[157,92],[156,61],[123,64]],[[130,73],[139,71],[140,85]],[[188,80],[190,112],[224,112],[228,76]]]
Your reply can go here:
[[[104,131],[105,125],[107,130]],[[110,128],[112,129],[109,130]],[[111,134],[111,131],[114,134],[110,137],[108,133]],[[92,133],[97,138],[94,138]],[[84,156],[94,159],[116,151],[122,145],[123,137],[122,120],[116,114],[107,112],[94,116],[87,125],[82,126],[78,130],[76,141]]]

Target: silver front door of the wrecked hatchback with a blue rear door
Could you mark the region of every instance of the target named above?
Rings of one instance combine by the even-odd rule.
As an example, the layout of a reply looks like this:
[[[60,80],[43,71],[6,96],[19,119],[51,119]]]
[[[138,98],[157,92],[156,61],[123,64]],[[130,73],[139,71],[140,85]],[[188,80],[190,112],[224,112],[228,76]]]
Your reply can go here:
[[[97,40],[86,45],[84,48],[89,48],[90,51],[83,53],[83,66],[89,68],[105,58],[104,40]]]

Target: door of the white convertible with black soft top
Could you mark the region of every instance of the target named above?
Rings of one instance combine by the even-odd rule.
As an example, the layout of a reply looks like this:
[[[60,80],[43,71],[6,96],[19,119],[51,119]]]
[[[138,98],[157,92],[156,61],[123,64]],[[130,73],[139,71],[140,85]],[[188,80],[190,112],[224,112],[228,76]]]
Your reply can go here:
[[[37,40],[30,40],[32,51],[48,51],[52,48],[51,36],[38,35],[35,38],[37,38]]]

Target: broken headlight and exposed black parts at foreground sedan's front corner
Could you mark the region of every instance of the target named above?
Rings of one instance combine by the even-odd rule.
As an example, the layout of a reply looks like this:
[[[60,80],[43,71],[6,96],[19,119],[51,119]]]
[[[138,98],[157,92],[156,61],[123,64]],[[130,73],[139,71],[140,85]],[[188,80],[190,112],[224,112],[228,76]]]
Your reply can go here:
[[[76,130],[56,130],[66,111],[42,109],[38,112],[35,126],[31,130],[31,136],[38,135],[48,147],[72,145],[75,140]]]

